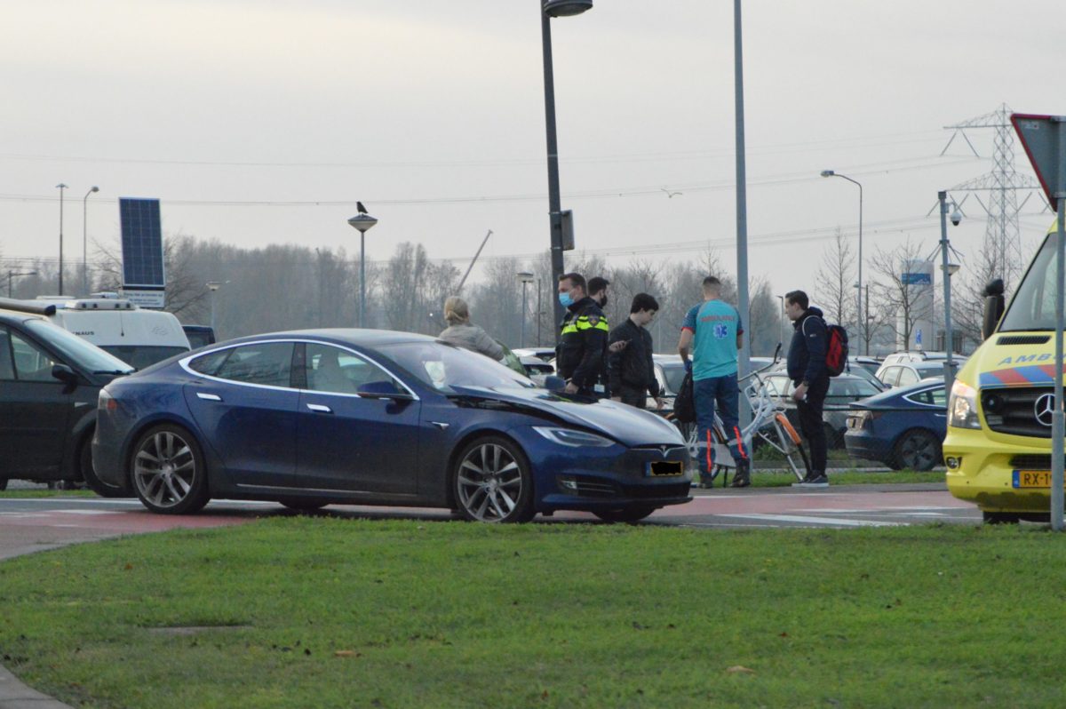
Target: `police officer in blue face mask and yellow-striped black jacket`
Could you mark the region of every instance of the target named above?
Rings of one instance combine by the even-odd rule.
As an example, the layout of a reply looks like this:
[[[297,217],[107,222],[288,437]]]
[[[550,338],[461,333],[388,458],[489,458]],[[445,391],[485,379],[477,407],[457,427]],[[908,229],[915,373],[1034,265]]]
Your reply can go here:
[[[566,393],[602,397],[597,391],[610,328],[602,308],[585,293],[585,277],[567,273],[559,278],[559,302],[566,308],[559,339],[555,370],[566,380]]]

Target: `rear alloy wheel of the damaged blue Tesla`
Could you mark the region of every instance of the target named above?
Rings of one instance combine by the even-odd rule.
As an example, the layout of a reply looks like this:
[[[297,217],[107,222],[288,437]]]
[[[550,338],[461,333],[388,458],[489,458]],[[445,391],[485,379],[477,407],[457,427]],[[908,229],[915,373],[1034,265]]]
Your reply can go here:
[[[180,426],[160,425],[133,447],[130,477],[136,496],[152,512],[180,515],[208,501],[204,455],[192,434]]]

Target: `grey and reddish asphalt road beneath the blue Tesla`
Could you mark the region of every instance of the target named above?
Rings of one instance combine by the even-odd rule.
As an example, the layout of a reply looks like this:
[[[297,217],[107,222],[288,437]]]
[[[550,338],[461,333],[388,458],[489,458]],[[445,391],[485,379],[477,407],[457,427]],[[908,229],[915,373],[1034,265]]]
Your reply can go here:
[[[978,509],[951,497],[941,484],[840,485],[818,490],[715,488],[693,490],[693,496],[688,504],[659,510],[643,523],[705,529],[981,523]],[[214,500],[199,514],[172,517],[151,514],[136,500],[0,499],[0,559],[123,534],[224,527],[292,514],[295,513],[273,502]],[[369,519],[452,518],[447,510],[356,505],[329,505],[317,514]],[[536,522],[575,523],[595,519],[585,513],[558,513],[537,517]]]

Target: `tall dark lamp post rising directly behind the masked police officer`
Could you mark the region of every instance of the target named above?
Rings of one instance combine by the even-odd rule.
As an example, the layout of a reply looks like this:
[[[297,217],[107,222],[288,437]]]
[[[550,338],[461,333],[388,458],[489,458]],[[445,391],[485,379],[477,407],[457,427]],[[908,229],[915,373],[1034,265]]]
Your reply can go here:
[[[544,42],[544,113],[548,139],[548,217],[551,225],[551,278],[563,275],[563,207],[559,188],[559,145],[555,138],[555,80],[551,63],[552,17],[580,15],[593,6],[593,0],[537,0],[540,7],[540,35]],[[563,305],[554,301],[555,322],[563,320]],[[559,334],[555,335],[559,337]]]

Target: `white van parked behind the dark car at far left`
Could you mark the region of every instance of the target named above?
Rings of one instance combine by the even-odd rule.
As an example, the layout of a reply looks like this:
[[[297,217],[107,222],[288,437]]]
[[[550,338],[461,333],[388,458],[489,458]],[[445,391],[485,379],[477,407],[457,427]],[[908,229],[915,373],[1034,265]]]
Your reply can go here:
[[[143,310],[112,293],[94,293],[83,299],[55,295],[38,296],[35,301],[0,299],[0,310],[43,315],[136,369],[191,349],[173,312]]]

